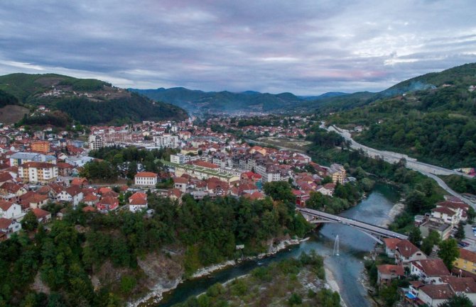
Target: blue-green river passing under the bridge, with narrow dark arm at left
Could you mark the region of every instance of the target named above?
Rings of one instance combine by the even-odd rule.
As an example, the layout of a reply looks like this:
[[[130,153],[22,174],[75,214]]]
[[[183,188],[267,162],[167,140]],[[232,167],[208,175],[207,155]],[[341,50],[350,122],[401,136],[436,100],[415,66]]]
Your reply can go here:
[[[389,219],[389,212],[398,200],[399,192],[396,188],[386,184],[377,184],[367,199],[363,199],[357,206],[345,211],[341,216],[381,225]],[[332,255],[336,235],[339,235],[339,256]],[[301,252],[310,250],[315,250],[325,257],[325,267],[332,272],[332,276],[340,288],[340,296],[348,307],[370,307],[372,304],[367,298],[367,291],[362,285],[362,279],[364,277],[364,256],[373,250],[374,244],[372,238],[354,228],[342,224],[325,224],[323,228],[310,234],[310,240],[278,252],[274,257],[244,262],[235,267],[212,273],[208,277],[185,281],[183,284],[179,284],[175,290],[165,294],[161,303],[156,307],[168,307],[183,302],[189,296],[196,296],[206,291],[212,284],[223,283],[234,277],[247,274],[259,265],[267,265],[288,257],[298,257]]]

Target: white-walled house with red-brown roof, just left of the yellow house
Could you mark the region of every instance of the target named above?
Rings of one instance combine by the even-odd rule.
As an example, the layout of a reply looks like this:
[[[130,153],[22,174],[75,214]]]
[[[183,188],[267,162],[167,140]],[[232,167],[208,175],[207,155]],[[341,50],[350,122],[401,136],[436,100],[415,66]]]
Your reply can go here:
[[[418,276],[426,284],[442,284],[442,276],[450,275],[442,259],[422,259],[412,261],[410,274]]]

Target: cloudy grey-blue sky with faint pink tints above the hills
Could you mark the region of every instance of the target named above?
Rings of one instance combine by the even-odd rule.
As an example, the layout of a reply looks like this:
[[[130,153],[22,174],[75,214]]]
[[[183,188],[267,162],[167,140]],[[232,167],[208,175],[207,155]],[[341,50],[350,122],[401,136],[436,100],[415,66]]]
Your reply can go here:
[[[4,0],[0,74],[121,87],[380,91],[476,62],[474,0]]]

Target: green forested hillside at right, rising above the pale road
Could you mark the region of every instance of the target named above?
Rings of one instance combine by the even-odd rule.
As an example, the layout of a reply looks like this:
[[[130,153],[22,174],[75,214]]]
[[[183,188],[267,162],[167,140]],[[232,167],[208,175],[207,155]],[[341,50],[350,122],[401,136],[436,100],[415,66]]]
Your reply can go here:
[[[356,139],[444,167],[476,167],[476,63],[406,80],[361,108],[328,116]]]

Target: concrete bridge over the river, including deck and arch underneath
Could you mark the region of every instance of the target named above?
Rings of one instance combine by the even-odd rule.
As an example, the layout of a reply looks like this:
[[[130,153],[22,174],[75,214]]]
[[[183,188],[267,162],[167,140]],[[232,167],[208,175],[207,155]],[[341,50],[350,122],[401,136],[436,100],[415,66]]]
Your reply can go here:
[[[394,231],[388,230],[386,228],[382,228],[369,223],[364,223],[361,221],[356,221],[352,218],[343,218],[342,216],[335,216],[333,214],[308,208],[296,207],[296,211],[301,212],[306,221],[310,223],[336,223],[347,225],[349,227],[361,231],[362,233],[365,233],[370,238],[374,239],[380,244],[383,244],[382,238],[399,238],[402,240],[409,238],[407,235],[401,235],[400,233],[395,233]]]

